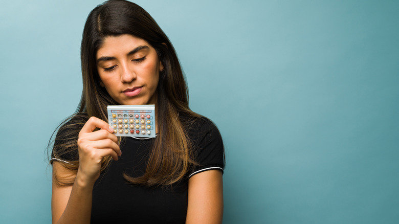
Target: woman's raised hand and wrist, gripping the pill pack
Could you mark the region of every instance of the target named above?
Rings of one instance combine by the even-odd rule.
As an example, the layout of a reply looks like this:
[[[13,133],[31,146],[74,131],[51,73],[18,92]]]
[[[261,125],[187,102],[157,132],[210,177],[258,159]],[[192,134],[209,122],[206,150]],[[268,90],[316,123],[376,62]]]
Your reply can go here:
[[[94,131],[96,128],[100,130]],[[101,161],[110,155],[118,160],[122,154],[114,129],[105,121],[91,117],[79,132],[79,168],[77,177],[81,184],[94,184],[100,176]]]

